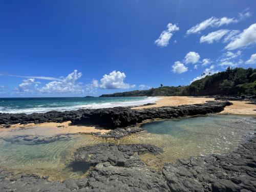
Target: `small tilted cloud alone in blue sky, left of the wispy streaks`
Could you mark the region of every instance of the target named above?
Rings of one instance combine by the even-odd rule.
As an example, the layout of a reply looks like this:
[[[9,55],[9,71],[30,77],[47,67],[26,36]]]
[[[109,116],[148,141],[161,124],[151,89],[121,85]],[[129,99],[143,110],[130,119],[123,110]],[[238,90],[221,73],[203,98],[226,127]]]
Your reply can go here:
[[[155,40],[155,44],[159,47],[166,47],[169,44],[170,38],[173,36],[173,32],[179,31],[179,27],[176,24],[169,23],[167,25],[167,30],[164,30],[159,38]]]

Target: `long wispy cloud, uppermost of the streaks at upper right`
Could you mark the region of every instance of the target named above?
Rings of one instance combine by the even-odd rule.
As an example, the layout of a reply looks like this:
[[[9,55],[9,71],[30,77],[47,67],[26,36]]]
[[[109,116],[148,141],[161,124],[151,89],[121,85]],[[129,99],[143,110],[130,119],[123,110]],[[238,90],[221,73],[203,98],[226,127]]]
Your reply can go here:
[[[238,20],[234,18],[228,18],[228,17],[222,17],[222,18],[216,18],[216,17],[210,17],[200,24],[197,24],[196,26],[190,28],[187,30],[186,34],[192,34],[192,33],[200,33],[202,30],[208,28],[208,27],[220,27],[222,25],[228,25],[231,23],[237,23]]]

